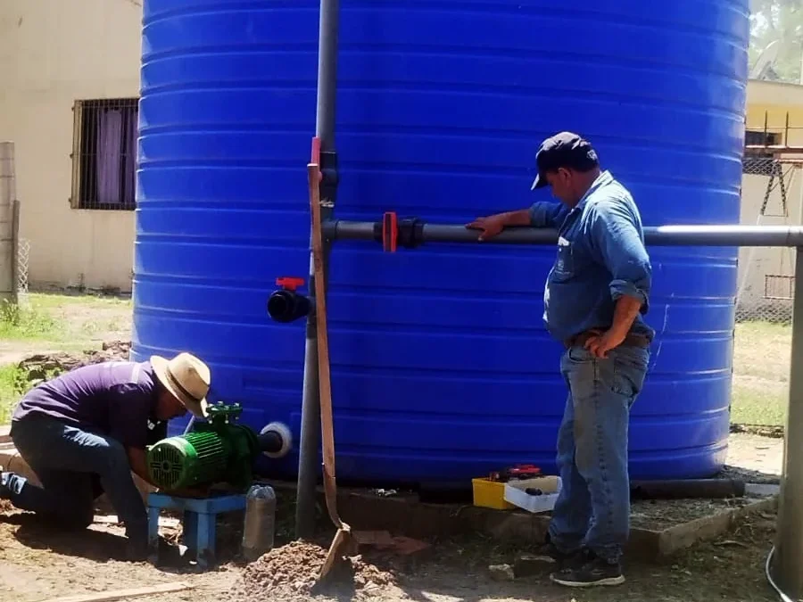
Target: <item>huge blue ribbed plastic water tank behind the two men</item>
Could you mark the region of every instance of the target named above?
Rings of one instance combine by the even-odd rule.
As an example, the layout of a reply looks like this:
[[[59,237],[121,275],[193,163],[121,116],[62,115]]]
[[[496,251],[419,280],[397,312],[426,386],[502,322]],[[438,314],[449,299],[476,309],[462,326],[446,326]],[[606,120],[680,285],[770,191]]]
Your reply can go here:
[[[465,223],[526,207],[548,194],[530,192],[537,144],[570,129],[646,225],[737,223],[747,0],[343,0],[340,21],[338,217]],[[318,3],[145,0],[143,41],[135,357],[192,350],[214,400],[297,436],[303,322],[265,308],[277,276],[308,270]],[[632,475],[711,474],[728,434],[736,252],[650,252],[658,339]],[[566,389],[541,321],[553,257],[337,243],[341,480],[554,469]]]

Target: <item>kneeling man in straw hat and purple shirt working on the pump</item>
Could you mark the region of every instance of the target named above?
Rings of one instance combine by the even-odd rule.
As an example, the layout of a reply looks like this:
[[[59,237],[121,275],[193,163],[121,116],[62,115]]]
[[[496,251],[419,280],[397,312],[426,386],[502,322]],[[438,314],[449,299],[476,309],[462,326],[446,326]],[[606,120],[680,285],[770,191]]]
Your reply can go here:
[[[11,437],[37,487],[0,472],[0,499],[62,527],[84,529],[103,491],[126,525],[128,557],[147,556],[145,504],[131,476],[151,482],[148,422],[205,416],[210,370],[181,353],[170,359],[79,367],[29,391],[14,409]],[[153,482],[151,482],[153,484]]]

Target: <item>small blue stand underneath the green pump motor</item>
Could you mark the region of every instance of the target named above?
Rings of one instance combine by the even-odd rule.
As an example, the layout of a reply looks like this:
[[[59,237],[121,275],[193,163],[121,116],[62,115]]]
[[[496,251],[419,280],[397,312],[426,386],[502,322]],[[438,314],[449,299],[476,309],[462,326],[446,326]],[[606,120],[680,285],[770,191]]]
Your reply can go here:
[[[212,498],[176,498],[164,493],[148,495],[149,559],[159,560],[159,515],[162,510],[181,510],[184,545],[195,550],[198,567],[206,570],[215,564],[215,523],[219,514],[245,509],[244,495],[221,495]]]

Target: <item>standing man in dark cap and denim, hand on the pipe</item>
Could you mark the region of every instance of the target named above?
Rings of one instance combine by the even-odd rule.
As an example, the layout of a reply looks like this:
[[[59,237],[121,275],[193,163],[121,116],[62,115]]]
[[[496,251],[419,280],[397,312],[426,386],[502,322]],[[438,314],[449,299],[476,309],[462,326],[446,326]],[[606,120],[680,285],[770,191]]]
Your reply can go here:
[[[642,390],[654,331],[647,313],[650,258],[633,198],[586,140],[561,132],[535,155],[533,189],[559,203],[476,219],[480,240],[505,227],[550,227],[558,256],[544,287],[543,321],[566,348],[560,372],[568,399],[558,434],[563,489],[544,553],[552,581],[584,587],[625,581],[620,565],[630,528],[627,426]]]

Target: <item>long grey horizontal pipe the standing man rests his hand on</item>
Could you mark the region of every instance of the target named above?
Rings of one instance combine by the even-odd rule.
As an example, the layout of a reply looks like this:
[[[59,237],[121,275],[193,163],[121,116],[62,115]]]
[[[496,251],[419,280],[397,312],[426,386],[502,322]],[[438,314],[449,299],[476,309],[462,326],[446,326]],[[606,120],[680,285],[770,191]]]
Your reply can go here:
[[[377,223],[342,219],[323,224],[330,240],[377,240]],[[477,243],[476,230],[460,224],[424,224],[423,243]],[[644,239],[653,246],[799,247],[800,226],[658,226],[645,227]],[[514,227],[484,242],[503,244],[555,244],[558,233],[549,228]]]

